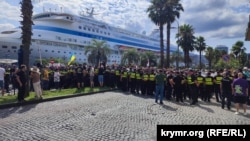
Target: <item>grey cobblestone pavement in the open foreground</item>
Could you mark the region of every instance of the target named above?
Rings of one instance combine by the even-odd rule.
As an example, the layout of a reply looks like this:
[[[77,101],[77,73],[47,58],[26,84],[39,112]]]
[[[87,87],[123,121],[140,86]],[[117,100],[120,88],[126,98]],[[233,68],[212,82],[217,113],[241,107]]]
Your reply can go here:
[[[105,92],[0,110],[1,141],[154,141],[157,124],[250,124],[214,99],[154,103],[153,97]]]

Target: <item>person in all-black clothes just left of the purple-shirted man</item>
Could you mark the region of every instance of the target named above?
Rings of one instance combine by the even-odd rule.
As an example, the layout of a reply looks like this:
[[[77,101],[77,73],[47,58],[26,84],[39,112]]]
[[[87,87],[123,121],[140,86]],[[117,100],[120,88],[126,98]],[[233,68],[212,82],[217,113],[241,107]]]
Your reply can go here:
[[[221,93],[221,108],[225,107],[225,99],[227,99],[227,109],[231,108],[231,99],[232,99],[232,79],[229,78],[229,72],[223,72],[223,78],[220,83],[220,93]]]

